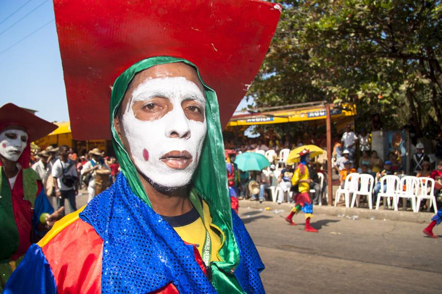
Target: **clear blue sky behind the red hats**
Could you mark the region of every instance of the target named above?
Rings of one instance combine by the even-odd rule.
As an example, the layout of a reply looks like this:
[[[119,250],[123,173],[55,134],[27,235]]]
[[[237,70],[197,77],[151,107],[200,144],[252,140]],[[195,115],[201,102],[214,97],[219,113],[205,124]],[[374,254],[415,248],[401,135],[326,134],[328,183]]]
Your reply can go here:
[[[0,0],[0,106],[69,121],[52,0]],[[250,103],[250,102],[249,102]],[[247,106],[245,99],[238,110]]]

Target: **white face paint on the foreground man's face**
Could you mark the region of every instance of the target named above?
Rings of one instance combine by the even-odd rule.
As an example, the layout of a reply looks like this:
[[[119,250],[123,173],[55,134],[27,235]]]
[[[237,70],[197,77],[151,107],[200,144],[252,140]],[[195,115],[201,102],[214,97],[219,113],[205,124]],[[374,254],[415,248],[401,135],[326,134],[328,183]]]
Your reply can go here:
[[[135,102],[143,101],[143,105],[148,105],[158,97],[169,99],[173,109],[153,121],[141,121],[135,117],[132,109]],[[185,100],[194,100],[201,106],[203,122],[186,117],[182,107]],[[189,184],[207,131],[205,105],[202,91],[185,77],[153,78],[138,85],[122,117],[138,171],[166,188]]]

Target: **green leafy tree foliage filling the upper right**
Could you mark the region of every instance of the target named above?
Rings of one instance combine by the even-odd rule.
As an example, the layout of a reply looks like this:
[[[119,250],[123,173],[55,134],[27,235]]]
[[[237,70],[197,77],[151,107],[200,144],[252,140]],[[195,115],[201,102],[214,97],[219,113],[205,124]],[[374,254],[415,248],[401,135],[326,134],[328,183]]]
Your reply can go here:
[[[359,125],[442,126],[441,0],[275,1],[273,43],[249,89],[258,107],[354,102]]]

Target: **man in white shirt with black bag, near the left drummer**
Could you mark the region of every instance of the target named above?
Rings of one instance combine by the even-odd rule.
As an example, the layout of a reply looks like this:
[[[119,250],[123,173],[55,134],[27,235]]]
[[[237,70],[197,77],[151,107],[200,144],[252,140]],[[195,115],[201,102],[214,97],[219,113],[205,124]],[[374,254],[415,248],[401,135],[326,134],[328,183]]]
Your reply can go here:
[[[71,212],[77,210],[77,204],[75,203],[75,196],[78,194],[77,183],[75,183],[76,177],[78,180],[77,169],[75,162],[69,160],[69,147],[62,145],[59,147],[60,158],[58,158],[54,166],[52,167],[52,176],[54,177],[54,190],[57,197],[58,207],[64,206],[64,199],[68,199]],[[70,178],[72,181],[63,181],[63,178]]]

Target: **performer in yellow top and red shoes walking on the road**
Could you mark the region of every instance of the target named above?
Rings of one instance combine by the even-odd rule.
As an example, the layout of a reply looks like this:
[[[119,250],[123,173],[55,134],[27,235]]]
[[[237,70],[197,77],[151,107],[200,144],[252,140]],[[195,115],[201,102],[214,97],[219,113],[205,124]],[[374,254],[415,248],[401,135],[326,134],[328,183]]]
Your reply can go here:
[[[310,183],[312,180],[308,174],[307,164],[310,161],[310,151],[304,149],[299,153],[301,157],[299,165],[296,167],[295,172],[292,177],[293,187],[298,186],[298,193],[295,194],[295,207],[290,211],[290,214],[285,218],[285,220],[291,225],[296,225],[292,221],[293,216],[300,211],[304,212],[305,217],[305,227],[304,231],[317,233],[318,230],[310,225],[310,218],[313,217],[313,203],[310,199]]]

